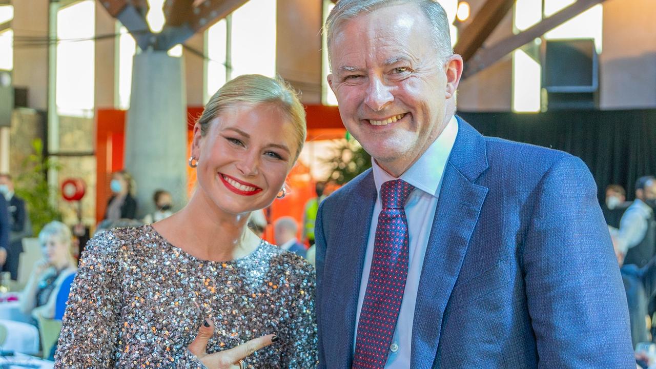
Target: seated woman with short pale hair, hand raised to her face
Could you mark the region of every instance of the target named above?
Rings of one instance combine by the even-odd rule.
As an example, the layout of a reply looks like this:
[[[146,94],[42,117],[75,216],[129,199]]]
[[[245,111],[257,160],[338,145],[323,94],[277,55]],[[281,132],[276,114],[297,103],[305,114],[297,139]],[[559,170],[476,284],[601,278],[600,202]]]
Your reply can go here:
[[[71,230],[64,223],[52,221],[39,232],[39,244],[43,259],[34,264],[30,280],[20,295],[20,309],[35,318],[53,318],[62,282],[77,271]]]

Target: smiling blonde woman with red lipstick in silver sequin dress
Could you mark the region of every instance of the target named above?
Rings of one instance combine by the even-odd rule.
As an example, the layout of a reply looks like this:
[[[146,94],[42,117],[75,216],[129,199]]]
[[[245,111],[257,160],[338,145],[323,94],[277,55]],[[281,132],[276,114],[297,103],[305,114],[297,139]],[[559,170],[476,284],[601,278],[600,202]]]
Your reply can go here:
[[[284,196],[305,136],[283,81],[226,83],[194,126],[189,203],[87,246],[55,368],[314,368],[312,266],[247,228]]]

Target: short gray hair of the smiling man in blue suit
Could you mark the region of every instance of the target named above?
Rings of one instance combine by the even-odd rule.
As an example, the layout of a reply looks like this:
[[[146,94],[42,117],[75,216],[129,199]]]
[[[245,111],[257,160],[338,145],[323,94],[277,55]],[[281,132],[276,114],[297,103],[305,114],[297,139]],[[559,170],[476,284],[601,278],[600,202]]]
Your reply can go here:
[[[376,9],[396,4],[417,4],[424,11],[432,29],[432,40],[438,57],[446,60],[453,54],[451,47],[451,30],[449,19],[444,8],[437,0],[339,0],[328,15],[323,32],[326,33],[328,46],[328,59],[330,60],[330,46],[335,31],[346,21],[352,20],[363,13],[370,13]]]

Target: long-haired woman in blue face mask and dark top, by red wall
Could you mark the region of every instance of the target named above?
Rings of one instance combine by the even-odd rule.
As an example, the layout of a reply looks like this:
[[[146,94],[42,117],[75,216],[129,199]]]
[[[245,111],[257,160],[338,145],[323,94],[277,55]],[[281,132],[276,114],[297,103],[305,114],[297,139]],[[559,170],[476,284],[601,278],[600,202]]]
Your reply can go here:
[[[130,173],[124,170],[112,173],[110,189],[112,190],[112,197],[107,202],[104,219],[110,221],[135,219],[136,199],[134,198],[134,183]]]

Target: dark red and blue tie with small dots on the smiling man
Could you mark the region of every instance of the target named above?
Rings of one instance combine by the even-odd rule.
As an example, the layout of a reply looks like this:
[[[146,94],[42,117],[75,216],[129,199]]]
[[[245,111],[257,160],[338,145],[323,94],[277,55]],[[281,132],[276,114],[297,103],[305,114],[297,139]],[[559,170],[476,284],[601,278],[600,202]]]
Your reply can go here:
[[[387,361],[408,274],[408,223],[403,207],[414,189],[401,179],[380,186],[382,209],[360,310],[354,369],[382,369]]]

